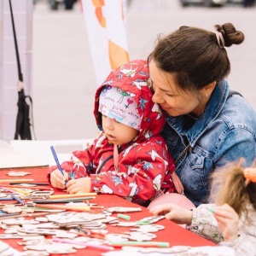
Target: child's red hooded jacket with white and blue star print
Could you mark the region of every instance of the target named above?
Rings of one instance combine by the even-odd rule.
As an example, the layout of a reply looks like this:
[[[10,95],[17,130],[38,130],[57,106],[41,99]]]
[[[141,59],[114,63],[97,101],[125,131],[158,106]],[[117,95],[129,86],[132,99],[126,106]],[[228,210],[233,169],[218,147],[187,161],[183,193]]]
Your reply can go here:
[[[115,172],[113,143],[102,131],[102,113],[98,111],[99,96],[108,86],[132,92],[142,119],[137,137],[119,145],[119,172]],[[74,151],[71,160],[61,164],[69,177],[90,176],[92,192],[119,195],[140,205],[154,199],[160,190],[175,191],[171,177],[174,162],[160,136],[166,115],[152,102],[152,96],[147,61],[130,61],[113,70],[96,90],[94,114],[101,131],[85,150]],[[55,169],[52,166],[49,172]]]

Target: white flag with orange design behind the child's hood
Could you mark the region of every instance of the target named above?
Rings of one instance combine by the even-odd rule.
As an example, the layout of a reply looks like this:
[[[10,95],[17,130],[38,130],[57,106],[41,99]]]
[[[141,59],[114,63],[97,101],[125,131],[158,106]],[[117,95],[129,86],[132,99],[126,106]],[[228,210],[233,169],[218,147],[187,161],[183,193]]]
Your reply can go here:
[[[129,61],[123,0],[83,0],[90,51],[101,85],[116,67]]]

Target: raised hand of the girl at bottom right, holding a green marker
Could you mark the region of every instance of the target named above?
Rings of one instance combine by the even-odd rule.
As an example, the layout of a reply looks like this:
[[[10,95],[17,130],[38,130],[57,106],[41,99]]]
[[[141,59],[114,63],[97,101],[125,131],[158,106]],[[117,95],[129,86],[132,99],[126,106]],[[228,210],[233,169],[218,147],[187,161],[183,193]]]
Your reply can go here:
[[[238,237],[239,216],[227,204],[215,207],[214,218],[218,221],[218,228],[224,236],[224,241],[235,241]]]

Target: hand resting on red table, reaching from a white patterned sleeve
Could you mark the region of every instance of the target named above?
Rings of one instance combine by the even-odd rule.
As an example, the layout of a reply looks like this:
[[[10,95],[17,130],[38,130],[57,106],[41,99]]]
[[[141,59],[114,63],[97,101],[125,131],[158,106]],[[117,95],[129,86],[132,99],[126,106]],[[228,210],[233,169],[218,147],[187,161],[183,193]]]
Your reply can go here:
[[[178,207],[175,204],[164,204],[160,206],[156,206],[150,210],[155,216],[165,215],[165,217],[169,220],[177,224],[187,224],[190,225],[192,222],[193,212],[183,207]]]

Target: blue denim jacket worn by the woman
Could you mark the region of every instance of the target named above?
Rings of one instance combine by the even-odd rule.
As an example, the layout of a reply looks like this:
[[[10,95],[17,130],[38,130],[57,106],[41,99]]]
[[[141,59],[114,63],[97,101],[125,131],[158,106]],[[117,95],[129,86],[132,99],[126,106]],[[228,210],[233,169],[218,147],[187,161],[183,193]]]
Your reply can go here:
[[[256,112],[242,96],[227,99],[229,90],[225,80],[218,83],[205,112],[190,128],[185,128],[187,115],[166,118],[162,136],[176,161],[184,194],[195,206],[207,202],[211,172],[241,157],[250,166],[256,156]]]

